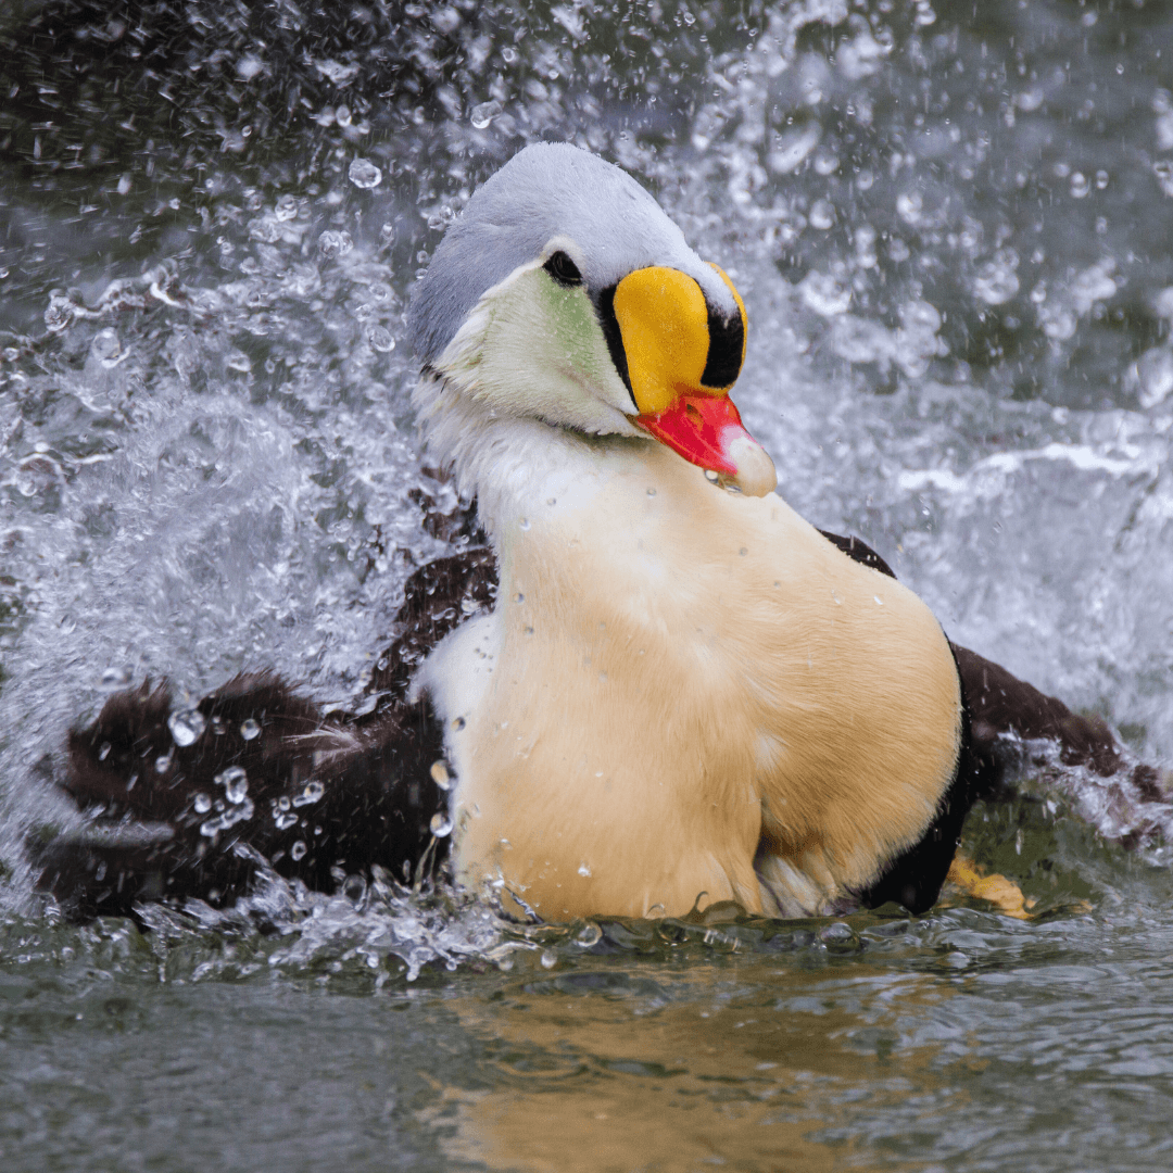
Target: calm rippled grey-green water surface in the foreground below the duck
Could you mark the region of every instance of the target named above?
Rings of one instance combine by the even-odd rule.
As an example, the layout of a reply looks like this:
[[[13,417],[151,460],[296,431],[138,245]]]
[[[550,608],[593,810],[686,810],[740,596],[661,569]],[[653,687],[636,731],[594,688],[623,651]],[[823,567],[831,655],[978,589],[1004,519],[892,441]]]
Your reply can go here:
[[[1164,1168],[1167,875],[1112,882],[1030,923],[513,930],[415,984],[337,910],[299,958],[215,914],[9,924],[5,1167]]]

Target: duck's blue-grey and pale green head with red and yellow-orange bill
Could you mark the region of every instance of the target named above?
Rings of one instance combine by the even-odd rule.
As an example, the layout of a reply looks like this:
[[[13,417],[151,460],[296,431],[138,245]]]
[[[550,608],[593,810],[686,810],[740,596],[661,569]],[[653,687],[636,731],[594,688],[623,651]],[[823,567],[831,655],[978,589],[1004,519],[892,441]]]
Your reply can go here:
[[[477,189],[408,328],[435,392],[416,400],[426,419],[456,395],[466,419],[650,438],[743,493],[778,483],[728,398],[745,358],[740,296],[588,151],[528,147]]]

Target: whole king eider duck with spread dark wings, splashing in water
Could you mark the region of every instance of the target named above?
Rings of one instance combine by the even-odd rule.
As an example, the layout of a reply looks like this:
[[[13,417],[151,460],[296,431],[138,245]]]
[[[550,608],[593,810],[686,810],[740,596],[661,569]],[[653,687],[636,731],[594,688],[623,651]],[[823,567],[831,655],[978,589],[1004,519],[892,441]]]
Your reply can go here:
[[[269,673],[184,713],[165,684],[107,701],[63,785],[167,833],[42,848],[77,915],[223,903],[258,868],[411,877],[445,852],[549,921],[921,911],[999,734],[1119,767],[1106,727],[950,645],[876,554],[774,493],[728,394],[741,298],[619,168],[516,155],[409,328],[427,450],[488,544],[408,582],[361,716]]]

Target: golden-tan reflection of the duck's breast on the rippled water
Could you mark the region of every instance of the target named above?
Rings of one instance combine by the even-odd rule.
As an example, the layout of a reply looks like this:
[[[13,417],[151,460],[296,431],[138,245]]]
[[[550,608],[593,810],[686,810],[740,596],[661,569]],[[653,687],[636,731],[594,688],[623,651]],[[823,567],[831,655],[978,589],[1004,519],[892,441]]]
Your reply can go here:
[[[855,965],[812,982],[758,962],[669,979],[579,970],[455,998],[491,1090],[454,1096],[445,1152],[502,1169],[829,1169],[859,1152],[861,1117],[950,1110],[937,1044],[909,1037],[950,992],[921,974]]]

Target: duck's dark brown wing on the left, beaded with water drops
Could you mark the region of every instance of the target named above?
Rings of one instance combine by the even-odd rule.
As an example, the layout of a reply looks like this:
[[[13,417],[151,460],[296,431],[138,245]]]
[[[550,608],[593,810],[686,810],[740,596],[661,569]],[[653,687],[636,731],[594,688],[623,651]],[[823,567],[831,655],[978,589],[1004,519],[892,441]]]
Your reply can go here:
[[[150,897],[229,903],[259,856],[326,891],[337,868],[409,874],[447,806],[430,772],[443,731],[426,699],[408,701],[411,673],[495,591],[487,550],[418,570],[361,714],[327,714],[272,673],[239,676],[187,712],[167,684],[111,697],[69,735],[63,786],[94,822],[34,849],[42,888],[88,917]]]

